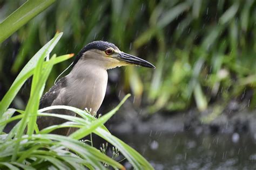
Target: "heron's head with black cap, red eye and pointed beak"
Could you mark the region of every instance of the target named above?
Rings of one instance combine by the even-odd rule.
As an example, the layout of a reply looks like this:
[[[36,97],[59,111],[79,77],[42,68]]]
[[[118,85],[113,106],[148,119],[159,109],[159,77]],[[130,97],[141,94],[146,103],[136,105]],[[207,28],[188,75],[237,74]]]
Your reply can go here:
[[[126,65],[156,68],[150,62],[124,53],[116,45],[106,41],[93,41],[87,44],[77,55],[73,66],[80,60],[90,60],[93,64],[101,65],[106,69]]]

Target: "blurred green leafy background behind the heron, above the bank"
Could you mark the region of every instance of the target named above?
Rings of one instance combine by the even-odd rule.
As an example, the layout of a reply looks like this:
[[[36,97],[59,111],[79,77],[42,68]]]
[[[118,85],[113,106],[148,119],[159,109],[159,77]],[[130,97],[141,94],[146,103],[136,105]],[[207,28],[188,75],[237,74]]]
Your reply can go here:
[[[0,1],[0,22],[24,2]],[[231,100],[245,99],[255,109],[255,7],[252,0],[56,1],[0,45],[0,98],[31,56],[60,31],[53,51],[58,55],[105,40],[153,63],[154,70],[110,70],[107,91],[107,96],[132,93],[149,114],[204,111],[211,104],[221,112]],[[46,90],[72,60],[53,68]],[[23,108],[26,96],[24,87],[14,107]]]

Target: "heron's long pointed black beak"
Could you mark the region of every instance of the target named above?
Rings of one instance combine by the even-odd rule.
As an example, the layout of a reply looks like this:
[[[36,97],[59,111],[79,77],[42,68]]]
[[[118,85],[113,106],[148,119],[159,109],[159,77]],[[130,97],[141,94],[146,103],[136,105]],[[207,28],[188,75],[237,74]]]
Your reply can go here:
[[[156,67],[154,67],[154,65],[152,65],[152,63],[150,63],[146,60],[140,59],[137,56],[126,54],[124,52],[121,52],[119,54],[120,54],[120,56],[118,58],[119,60],[125,61],[127,63],[132,64],[132,65],[149,67],[149,68],[156,68]]]

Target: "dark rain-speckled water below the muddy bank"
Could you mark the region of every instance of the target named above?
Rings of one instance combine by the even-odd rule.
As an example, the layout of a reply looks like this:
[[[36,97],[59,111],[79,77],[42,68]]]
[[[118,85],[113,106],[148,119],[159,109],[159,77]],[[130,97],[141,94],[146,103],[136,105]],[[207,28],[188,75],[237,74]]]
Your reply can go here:
[[[256,140],[248,134],[150,132],[116,136],[155,169],[256,169]]]

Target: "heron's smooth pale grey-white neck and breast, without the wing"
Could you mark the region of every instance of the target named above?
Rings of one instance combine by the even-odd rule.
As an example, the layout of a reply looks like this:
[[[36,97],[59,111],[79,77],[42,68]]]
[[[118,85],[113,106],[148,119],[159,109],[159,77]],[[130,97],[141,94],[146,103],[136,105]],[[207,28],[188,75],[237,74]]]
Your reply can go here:
[[[106,69],[100,65],[81,60],[76,63],[66,79],[67,84],[69,84],[68,91],[72,91],[71,100],[74,100],[71,105],[97,112],[106,93]]]

